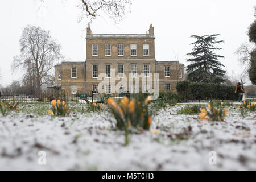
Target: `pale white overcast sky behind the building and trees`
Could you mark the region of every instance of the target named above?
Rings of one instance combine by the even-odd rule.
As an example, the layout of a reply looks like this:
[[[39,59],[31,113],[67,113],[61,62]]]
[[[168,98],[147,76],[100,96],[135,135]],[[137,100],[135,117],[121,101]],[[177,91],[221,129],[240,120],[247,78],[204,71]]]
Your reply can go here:
[[[11,73],[13,57],[19,55],[19,39],[28,24],[51,31],[51,36],[62,46],[68,61],[85,61],[88,21],[79,22],[80,0],[45,0],[43,6],[35,0],[8,0],[0,3],[0,84],[7,86],[12,80],[20,80],[20,73]],[[254,20],[255,0],[206,1],[206,0],[134,0],[130,13],[114,24],[101,16],[94,20],[94,34],[144,34],[150,24],[155,27],[156,60],[179,60],[187,65],[186,53],[191,52],[191,35],[220,34],[225,40],[219,51],[225,69],[236,73],[238,65],[236,49],[248,40],[246,31]]]

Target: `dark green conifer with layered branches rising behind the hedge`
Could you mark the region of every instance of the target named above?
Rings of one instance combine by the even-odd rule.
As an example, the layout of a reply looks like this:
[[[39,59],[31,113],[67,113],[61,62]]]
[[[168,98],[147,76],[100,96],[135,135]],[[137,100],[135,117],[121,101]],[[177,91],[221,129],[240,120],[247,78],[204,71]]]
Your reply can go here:
[[[193,57],[187,59],[191,63],[186,69],[189,81],[208,83],[221,83],[225,81],[226,71],[222,69],[225,66],[218,61],[218,59],[224,58],[224,56],[214,54],[215,50],[221,49],[214,47],[214,44],[224,43],[224,40],[217,40],[218,35],[191,36],[197,40],[191,44],[194,46],[193,52],[187,54]]]

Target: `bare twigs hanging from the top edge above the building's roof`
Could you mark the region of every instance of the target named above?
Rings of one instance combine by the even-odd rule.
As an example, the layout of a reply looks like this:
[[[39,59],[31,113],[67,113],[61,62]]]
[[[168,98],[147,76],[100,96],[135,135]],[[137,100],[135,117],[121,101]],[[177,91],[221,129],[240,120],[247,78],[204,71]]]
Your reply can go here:
[[[46,0],[39,0],[44,2]],[[131,5],[131,0],[79,0],[81,7],[81,19],[87,16],[90,21],[102,14],[107,15],[114,22],[121,20],[125,16],[127,9]]]

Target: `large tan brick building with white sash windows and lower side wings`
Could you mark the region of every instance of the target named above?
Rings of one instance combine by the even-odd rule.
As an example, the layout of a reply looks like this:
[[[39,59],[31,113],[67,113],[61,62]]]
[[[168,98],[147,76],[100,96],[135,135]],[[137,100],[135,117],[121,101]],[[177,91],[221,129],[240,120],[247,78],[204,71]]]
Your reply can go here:
[[[144,78],[155,88],[154,73],[159,74],[159,90],[175,90],[176,82],[184,80],[184,64],[156,61],[152,24],[146,34],[93,34],[89,24],[86,61],[55,65],[54,86],[72,94],[98,88],[105,93],[135,92],[136,89],[143,92],[146,91],[141,84]],[[118,84],[121,80],[122,84]]]

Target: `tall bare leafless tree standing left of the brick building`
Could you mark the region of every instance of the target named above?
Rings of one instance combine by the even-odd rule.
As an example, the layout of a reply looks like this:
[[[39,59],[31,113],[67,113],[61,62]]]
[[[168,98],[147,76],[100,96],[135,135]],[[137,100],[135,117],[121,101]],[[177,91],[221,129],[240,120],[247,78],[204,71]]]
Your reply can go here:
[[[20,42],[20,55],[13,60],[13,72],[22,68],[23,84],[41,93],[42,85],[54,77],[53,67],[63,59],[61,46],[52,39],[49,31],[40,27],[27,26],[23,29]]]

